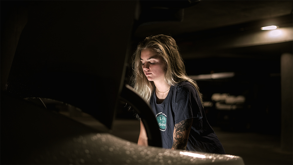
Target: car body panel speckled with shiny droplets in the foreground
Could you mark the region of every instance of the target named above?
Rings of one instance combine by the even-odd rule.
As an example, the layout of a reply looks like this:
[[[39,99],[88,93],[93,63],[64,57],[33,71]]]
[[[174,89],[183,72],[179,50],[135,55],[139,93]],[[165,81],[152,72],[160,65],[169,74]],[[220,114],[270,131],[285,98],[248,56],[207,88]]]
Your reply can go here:
[[[140,147],[1,92],[1,164],[244,164],[239,156]]]

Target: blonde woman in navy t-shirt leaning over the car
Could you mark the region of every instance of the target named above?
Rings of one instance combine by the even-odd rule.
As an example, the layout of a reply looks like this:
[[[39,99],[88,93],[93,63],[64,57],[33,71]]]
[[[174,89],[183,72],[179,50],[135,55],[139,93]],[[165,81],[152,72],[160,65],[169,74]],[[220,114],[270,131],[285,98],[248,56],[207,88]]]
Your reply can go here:
[[[132,67],[132,86],[151,106],[163,148],[225,154],[207,122],[198,86],[186,75],[172,37],[147,37],[137,46]],[[140,125],[138,145],[147,146],[146,130],[142,122]]]

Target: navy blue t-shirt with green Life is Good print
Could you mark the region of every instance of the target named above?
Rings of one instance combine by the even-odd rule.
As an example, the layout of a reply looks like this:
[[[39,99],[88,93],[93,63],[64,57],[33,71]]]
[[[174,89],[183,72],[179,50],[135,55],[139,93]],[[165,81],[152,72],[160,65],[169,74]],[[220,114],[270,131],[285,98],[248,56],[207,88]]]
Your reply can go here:
[[[150,106],[161,130],[163,148],[172,148],[174,125],[193,118],[186,150],[225,154],[221,142],[206,119],[195,87],[188,81],[171,86],[161,104],[156,103],[154,93]]]

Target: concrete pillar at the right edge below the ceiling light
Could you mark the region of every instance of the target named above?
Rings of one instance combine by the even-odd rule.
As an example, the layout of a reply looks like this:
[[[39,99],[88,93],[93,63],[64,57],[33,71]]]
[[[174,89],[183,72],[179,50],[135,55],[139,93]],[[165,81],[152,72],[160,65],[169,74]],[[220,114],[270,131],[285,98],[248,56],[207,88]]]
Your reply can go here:
[[[281,148],[293,150],[293,62],[291,53],[281,55]]]

